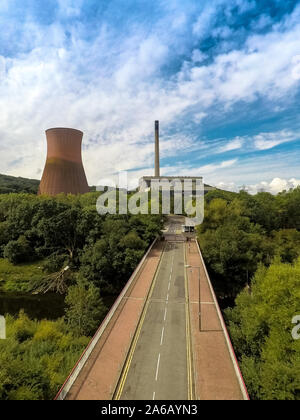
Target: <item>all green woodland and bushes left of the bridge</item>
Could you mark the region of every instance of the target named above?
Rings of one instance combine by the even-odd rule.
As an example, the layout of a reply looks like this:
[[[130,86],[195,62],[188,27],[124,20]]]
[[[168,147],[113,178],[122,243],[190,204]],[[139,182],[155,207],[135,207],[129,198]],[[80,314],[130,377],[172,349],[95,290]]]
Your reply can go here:
[[[99,216],[99,193],[0,195],[0,287],[65,295],[58,321],[7,317],[0,400],[53,398],[163,226],[161,216]]]

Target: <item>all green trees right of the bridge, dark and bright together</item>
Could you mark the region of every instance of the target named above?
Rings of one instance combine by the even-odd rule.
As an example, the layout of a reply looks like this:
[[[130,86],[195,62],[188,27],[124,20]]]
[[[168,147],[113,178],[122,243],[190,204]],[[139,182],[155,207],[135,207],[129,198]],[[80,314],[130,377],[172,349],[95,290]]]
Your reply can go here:
[[[300,399],[300,188],[206,196],[198,239],[252,399]]]

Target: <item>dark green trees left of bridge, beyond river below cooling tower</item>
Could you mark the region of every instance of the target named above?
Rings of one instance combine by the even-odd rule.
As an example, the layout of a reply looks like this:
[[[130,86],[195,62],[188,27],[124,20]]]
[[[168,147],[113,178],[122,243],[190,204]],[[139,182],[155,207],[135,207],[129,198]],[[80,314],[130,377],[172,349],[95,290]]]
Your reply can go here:
[[[28,290],[65,293],[76,277],[111,294],[128,280],[160,232],[161,216],[100,216],[98,196],[0,196],[0,257],[43,264],[43,279]]]

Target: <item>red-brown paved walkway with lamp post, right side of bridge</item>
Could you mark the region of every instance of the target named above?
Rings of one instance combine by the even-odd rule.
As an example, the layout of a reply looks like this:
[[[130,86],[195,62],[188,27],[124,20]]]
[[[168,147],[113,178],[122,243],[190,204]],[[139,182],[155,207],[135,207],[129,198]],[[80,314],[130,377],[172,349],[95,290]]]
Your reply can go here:
[[[247,393],[196,242],[186,244],[195,397],[199,400],[243,400]],[[199,304],[200,302],[200,304]]]

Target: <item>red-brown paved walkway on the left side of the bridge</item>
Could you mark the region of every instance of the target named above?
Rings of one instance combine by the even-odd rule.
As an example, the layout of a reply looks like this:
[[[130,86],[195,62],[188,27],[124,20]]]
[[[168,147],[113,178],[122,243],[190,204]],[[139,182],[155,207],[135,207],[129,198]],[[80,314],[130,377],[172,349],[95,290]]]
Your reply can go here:
[[[109,400],[125,363],[155,271],[163,244],[151,250],[132,287],[82,368],[67,398],[68,400]]]

